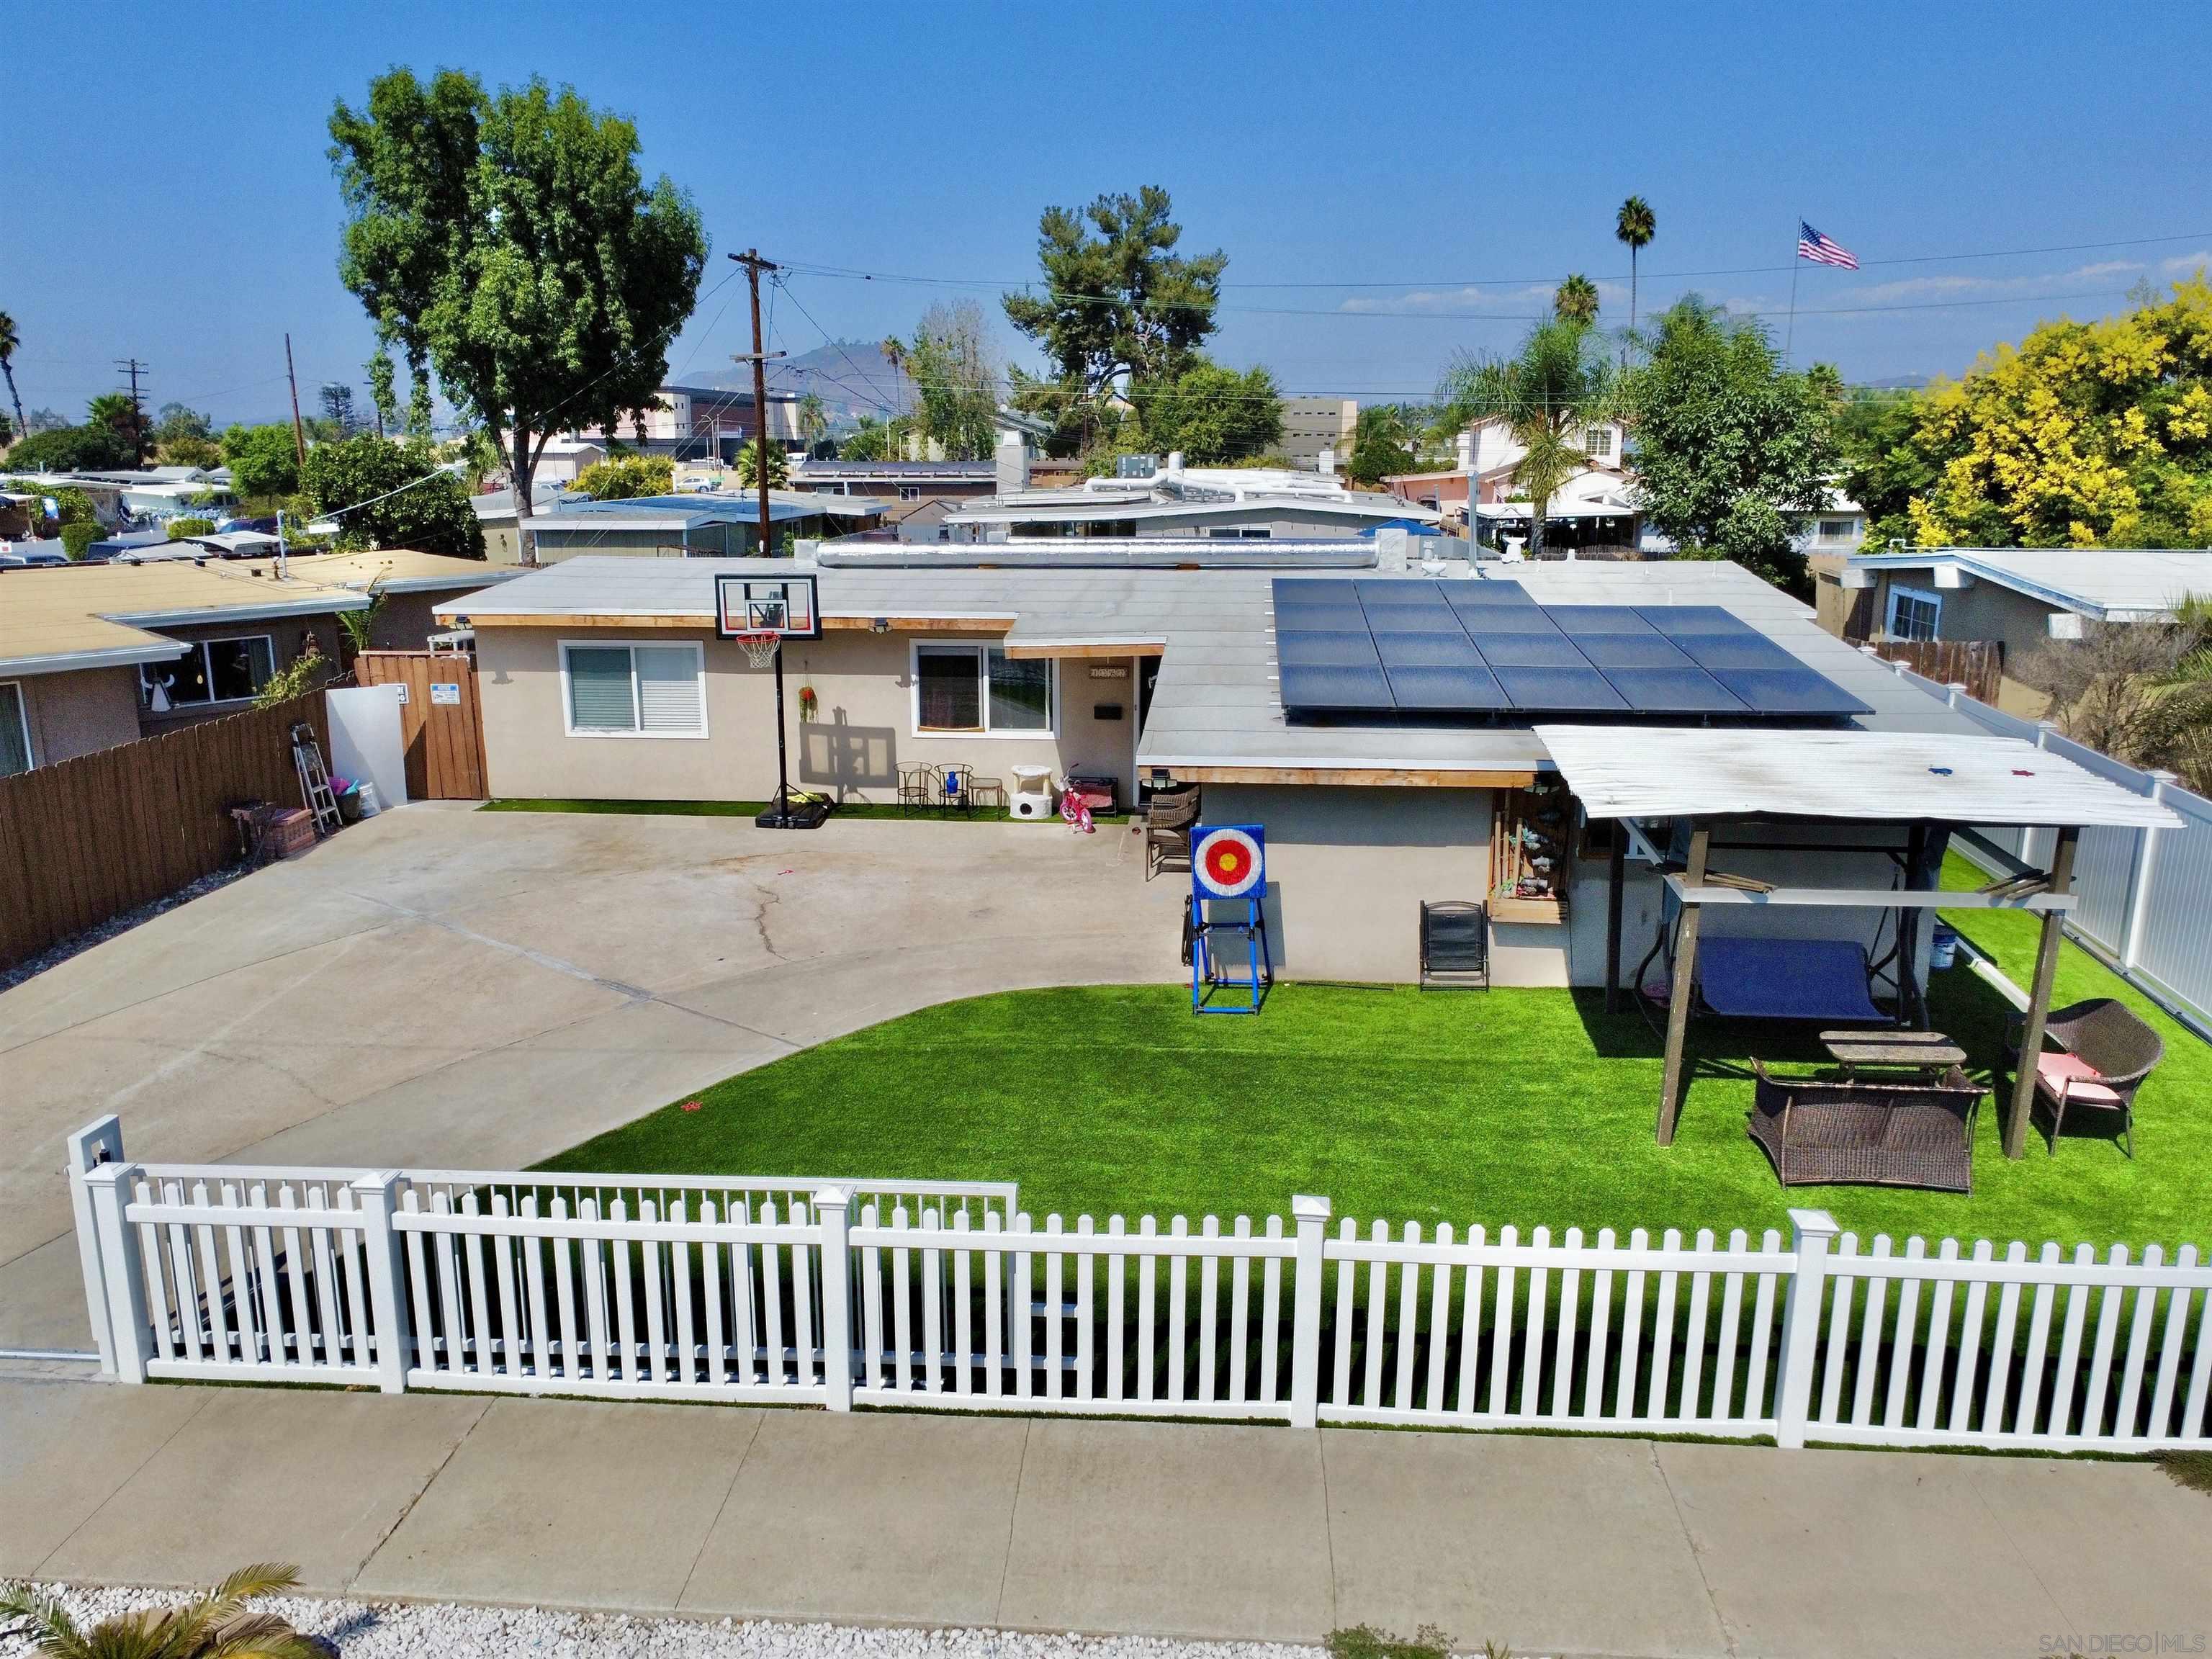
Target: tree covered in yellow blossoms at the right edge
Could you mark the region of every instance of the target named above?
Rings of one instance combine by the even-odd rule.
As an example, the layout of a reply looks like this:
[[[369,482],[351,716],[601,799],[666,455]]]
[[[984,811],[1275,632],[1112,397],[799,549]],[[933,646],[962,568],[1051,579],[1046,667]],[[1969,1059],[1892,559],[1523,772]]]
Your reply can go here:
[[[1869,431],[1847,487],[1871,546],[2208,546],[2212,285],[2044,323]]]

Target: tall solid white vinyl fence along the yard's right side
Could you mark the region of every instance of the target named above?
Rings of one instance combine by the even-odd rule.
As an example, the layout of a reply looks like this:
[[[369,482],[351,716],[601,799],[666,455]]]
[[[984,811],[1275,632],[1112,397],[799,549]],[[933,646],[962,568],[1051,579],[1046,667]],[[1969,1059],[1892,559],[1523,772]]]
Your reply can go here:
[[[1978,703],[1962,686],[1938,686],[1893,664],[1900,679],[1931,697],[1942,697],[1960,714],[1995,737],[2017,737],[2146,794],[2181,814],[2183,830],[2081,832],[2075,849],[2079,905],[2066,931],[2106,958],[2128,980],[2166,1006],[2212,1031],[2212,801],[2174,783],[2172,772],[2139,772],[2062,737],[2051,721],[2024,721]],[[1984,830],[1984,834],[2037,869],[2051,863],[2053,830]],[[1960,854],[1978,858],[1973,847]],[[1993,876],[2006,872],[1991,869]]]

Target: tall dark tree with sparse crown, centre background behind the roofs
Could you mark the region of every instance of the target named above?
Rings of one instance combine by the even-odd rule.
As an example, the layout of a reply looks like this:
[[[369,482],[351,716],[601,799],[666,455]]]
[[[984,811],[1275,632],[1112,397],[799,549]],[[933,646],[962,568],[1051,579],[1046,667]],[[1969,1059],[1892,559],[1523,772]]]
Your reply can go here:
[[[1015,374],[1013,400],[1051,416],[1053,453],[1075,453],[1110,427],[1108,392],[1164,385],[1188,369],[1214,332],[1219,248],[1175,252],[1183,228],[1168,192],[1102,195],[1088,208],[1046,208],[1037,221],[1044,292],[1006,294],[1006,321],[1044,352],[1051,374]]]

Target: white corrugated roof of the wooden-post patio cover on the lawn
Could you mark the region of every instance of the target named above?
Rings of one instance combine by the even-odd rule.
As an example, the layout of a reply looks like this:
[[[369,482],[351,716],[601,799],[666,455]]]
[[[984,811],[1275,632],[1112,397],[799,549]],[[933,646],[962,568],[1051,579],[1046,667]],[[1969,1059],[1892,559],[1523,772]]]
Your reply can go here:
[[[2179,825],[2170,807],[2017,737],[1537,726],[1593,818],[1772,812],[1858,823]]]

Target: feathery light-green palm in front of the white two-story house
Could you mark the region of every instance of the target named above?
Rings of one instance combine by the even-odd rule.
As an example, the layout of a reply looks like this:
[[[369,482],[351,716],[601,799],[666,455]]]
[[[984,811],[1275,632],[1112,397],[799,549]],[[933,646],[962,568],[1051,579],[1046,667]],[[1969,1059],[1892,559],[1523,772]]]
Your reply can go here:
[[[1544,511],[1588,467],[1582,429],[1617,411],[1619,374],[1597,330],[1575,316],[1537,323],[1513,356],[1462,352],[1436,389],[1438,427],[1504,420],[1522,447],[1513,484],[1528,495],[1528,551],[1544,549]]]

